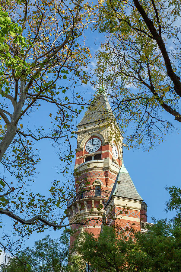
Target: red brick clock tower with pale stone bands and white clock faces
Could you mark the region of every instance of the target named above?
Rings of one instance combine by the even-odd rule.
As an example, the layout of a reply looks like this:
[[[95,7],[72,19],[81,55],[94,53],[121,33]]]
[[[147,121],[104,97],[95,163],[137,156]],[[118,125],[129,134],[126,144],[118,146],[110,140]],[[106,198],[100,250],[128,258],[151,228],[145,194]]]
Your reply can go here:
[[[128,185],[125,192],[130,188],[130,194],[125,195],[125,198],[120,192],[119,196],[116,195],[116,185],[119,184],[119,177],[127,178],[127,176],[122,175],[122,170],[127,170],[124,169],[124,166],[121,167],[123,136],[111,110],[106,93],[97,95],[94,105],[88,108],[77,125],[76,134],[76,193],[68,200],[67,204],[69,223],[75,222],[75,224],[71,225],[71,228],[76,229],[77,233],[87,230],[97,235],[101,231],[103,216],[105,220],[104,212],[107,210],[106,216],[108,219],[106,220],[113,224],[111,218],[114,208],[111,205],[117,205],[115,211],[118,213],[117,210],[124,209],[123,205],[126,205],[126,201],[129,198],[134,199],[135,196],[136,200],[128,202],[135,201],[138,204],[133,205],[133,212],[136,211],[139,217],[139,220],[134,220],[140,222],[143,199],[137,193],[132,181],[127,184],[128,180],[125,180]],[[119,191],[121,191],[120,186]],[[144,215],[146,218],[145,213]],[[122,221],[127,224],[129,220]],[[76,222],[86,224],[81,226]],[[137,227],[140,228],[140,223],[139,226],[137,224]],[[74,239],[71,236],[70,245],[74,242]]]

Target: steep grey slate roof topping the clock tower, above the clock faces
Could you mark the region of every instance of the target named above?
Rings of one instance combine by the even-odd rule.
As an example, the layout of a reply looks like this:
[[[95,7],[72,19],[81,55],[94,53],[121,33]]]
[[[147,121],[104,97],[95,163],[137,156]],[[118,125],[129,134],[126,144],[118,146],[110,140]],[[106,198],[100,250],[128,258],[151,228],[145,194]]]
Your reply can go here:
[[[87,112],[85,113],[84,117],[77,125],[77,127],[95,123],[97,121],[101,122],[103,120],[110,119],[111,114],[112,109],[107,99],[106,92],[98,93],[95,99],[94,106],[90,106],[88,108]]]

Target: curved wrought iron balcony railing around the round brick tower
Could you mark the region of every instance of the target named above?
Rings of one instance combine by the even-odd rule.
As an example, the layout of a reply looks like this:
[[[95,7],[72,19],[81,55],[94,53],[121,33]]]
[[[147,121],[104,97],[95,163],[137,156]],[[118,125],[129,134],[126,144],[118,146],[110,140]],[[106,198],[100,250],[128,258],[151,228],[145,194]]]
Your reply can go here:
[[[69,207],[73,202],[85,199],[89,197],[101,197],[101,198],[109,198],[111,191],[101,190],[101,189],[90,189],[83,192],[78,193],[75,196],[71,196],[67,201],[67,207]]]

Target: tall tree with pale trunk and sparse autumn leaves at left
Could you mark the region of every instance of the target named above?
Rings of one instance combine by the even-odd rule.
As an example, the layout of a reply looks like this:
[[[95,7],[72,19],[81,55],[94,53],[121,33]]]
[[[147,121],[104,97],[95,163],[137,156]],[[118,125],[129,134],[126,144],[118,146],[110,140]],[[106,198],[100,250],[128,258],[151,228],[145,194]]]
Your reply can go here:
[[[28,186],[40,163],[36,142],[57,148],[63,175],[72,163],[70,139],[87,105],[76,86],[91,80],[84,31],[94,7],[79,0],[1,0],[0,6],[0,226],[11,218],[18,241],[6,233],[1,247],[15,254],[33,231],[66,226],[72,180],[50,181],[46,197]]]

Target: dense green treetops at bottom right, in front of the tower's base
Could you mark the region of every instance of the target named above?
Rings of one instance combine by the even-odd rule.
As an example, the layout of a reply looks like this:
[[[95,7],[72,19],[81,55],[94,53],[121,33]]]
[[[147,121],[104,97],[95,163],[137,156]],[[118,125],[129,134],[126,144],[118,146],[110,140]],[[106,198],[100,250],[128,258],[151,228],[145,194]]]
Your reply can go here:
[[[176,272],[181,269],[180,238],[180,228],[172,228],[167,220],[159,220],[146,234],[129,237],[104,226],[98,237],[85,232],[75,251],[91,271]]]

